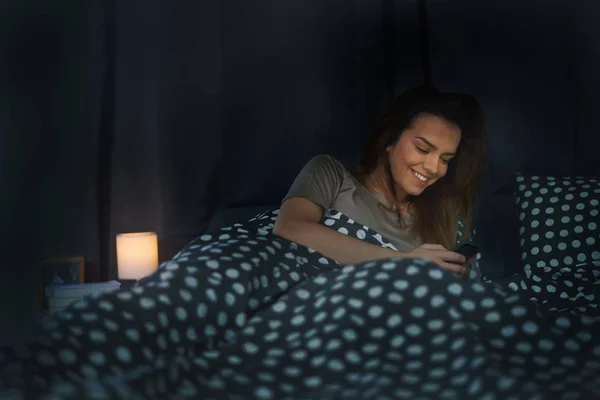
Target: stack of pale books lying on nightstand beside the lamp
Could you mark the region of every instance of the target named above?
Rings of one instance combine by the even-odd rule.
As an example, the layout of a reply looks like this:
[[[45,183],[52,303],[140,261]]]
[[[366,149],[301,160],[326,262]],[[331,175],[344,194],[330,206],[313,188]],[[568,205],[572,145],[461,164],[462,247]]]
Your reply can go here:
[[[54,314],[83,297],[110,292],[119,287],[121,283],[118,281],[46,286],[48,313]]]

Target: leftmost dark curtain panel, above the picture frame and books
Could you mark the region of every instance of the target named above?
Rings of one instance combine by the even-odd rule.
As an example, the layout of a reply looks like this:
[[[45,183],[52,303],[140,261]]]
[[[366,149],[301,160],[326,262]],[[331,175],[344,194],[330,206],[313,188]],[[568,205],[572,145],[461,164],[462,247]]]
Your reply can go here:
[[[99,269],[104,2],[0,4],[0,342],[33,321],[39,261]]]

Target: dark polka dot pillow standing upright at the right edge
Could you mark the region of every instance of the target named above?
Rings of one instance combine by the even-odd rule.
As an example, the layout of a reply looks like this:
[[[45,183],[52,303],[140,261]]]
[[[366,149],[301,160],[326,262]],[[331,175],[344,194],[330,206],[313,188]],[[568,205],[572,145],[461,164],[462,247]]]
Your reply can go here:
[[[599,179],[524,174],[516,179],[524,269],[599,265]]]

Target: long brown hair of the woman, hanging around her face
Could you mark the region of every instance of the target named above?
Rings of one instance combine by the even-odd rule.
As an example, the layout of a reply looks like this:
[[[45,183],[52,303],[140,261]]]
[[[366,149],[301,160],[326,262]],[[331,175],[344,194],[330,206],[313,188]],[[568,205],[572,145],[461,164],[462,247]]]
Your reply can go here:
[[[463,238],[471,230],[479,172],[487,157],[485,114],[474,97],[444,93],[429,86],[405,91],[375,122],[355,175],[363,184],[371,179],[394,208],[401,210],[386,149],[393,146],[421,115],[442,118],[461,131],[456,156],[449,162],[446,175],[419,196],[409,196],[413,214],[412,232],[423,243],[451,248],[459,219],[465,218],[466,222]],[[398,217],[402,223],[400,212]]]

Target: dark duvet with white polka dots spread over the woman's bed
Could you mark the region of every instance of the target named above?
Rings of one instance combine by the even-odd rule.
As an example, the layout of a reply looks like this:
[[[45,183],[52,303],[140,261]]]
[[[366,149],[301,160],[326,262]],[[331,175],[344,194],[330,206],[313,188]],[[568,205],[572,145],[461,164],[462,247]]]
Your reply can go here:
[[[276,215],[203,235],[3,349],[0,398],[599,398],[597,274],[537,291],[558,283],[463,280],[419,259],[340,266],[273,235]],[[324,223],[387,243],[335,211]]]

